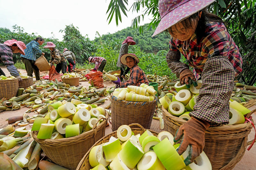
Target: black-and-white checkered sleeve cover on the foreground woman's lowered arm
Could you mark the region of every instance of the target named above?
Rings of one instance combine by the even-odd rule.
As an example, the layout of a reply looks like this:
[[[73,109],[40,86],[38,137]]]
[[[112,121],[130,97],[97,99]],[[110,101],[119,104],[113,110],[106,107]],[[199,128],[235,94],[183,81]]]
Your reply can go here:
[[[202,86],[190,116],[212,127],[228,124],[229,98],[234,87],[234,69],[227,56],[208,58],[201,74]]]

